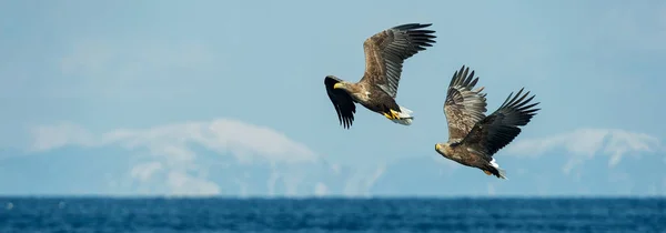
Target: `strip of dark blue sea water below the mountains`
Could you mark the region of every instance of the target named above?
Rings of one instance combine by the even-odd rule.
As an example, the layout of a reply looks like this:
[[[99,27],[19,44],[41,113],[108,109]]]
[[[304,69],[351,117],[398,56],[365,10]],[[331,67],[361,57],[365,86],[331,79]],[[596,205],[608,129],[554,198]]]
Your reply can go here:
[[[666,232],[666,199],[0,197],[0,232]]]

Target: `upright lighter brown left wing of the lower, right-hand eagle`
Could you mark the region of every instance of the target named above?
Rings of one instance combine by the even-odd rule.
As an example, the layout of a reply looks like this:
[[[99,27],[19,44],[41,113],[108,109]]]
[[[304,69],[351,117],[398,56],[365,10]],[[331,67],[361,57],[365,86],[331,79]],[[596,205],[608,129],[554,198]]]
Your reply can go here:
[[[476,124],[485,118],[486,99],[483,87],[472,90],[478,77],[474,78],[474,70],[463,65],[453,73],[444,101],[444,115],[448,124],[448,141],[458,142]]]

